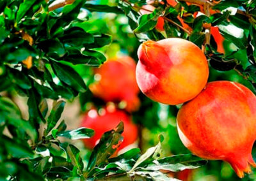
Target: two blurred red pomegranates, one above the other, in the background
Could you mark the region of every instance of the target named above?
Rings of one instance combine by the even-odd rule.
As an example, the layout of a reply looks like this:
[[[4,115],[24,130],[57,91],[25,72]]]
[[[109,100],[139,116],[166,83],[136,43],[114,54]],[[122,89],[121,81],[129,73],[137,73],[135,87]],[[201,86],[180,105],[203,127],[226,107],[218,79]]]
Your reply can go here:
[[[118,150],[134,143],[138,138],[138,127],[132,124],[131,112],[138,110],[140,89],[136,83],[136,63],[131,57],[108,59],[100,68],[95,68],[95,82],[89,88],[93,95],[105,101],[106,106],[92,108],[84,115],[81,126],[92,128],[95,135],[84,139],[84,145],[93,148],[102,134],[124,122],[124,141]],[[117,107],[122,107],[117,109]]]

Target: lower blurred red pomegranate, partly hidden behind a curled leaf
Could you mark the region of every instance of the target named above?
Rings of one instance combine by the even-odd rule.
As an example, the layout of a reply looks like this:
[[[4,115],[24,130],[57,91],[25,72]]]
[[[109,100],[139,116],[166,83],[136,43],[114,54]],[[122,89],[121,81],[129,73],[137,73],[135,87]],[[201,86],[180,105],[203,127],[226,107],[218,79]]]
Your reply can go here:
[[[100,140],[102,134],[115,128],[122,120],[124,122],[124,141],[118,150],[134,143],[138,138],[138,128],[132,123],[131,117],[122,110],[103,109],[102,115],[97,110],[92,109],[84,115],[81,126],[91,128],[95,131],[92,138],[84,139],[84,145],[93,148]]]

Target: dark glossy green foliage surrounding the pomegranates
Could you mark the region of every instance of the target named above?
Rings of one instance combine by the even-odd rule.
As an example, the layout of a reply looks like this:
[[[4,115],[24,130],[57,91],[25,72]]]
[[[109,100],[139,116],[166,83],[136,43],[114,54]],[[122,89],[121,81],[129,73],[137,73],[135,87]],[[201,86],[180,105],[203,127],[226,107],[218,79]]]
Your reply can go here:
[[[230,75],[235,75],[236,71],[252,84],[251,89],[255,89],[256,2],[221,1],[212,7],[218,12],[208,17],[194,17],[193,14],[200,8],[182,1],[174,7],[167,6],[166,1],[163,1],[165,4],[156,1],[156,10],[148,15],[139,13],[141,6],[146,4],[143,0],[120,0],[111,5],[108,1],[105,4],[93,4],[76,0],[49,11],[52,2],[0,1],[0,92],[7,95],[0,97],[0,180],[170,180],[172,178],[159,170],[176,172],[204,165],[206,161],[184,154],[188,150],[177,138],[173,115],[179,106],[160,105],[141,96],[140,111],[134,113],[134,120],[140,126],[152,129],[154,134],[169,131],[166,139],[172,136],[173,139],[170,138],[168,142],[175,145],[171,150],[177,155],[168,157],[161,157],[162,136],[157,139],[155,147],[143,147],[144,154],[139,148],[133,148],[111,157],[122,142],[124,127],[121,122],[116,129],[102,136],[90,159],[85,161],[77,147],[60,138],[90,138],[94,131],[85,127],[67,130],[61,113],[65,102],[73,101],[78,95],[83,110],[86,103],[97,102],[84,82],[92,82],[92,74],[87,75],[84,69],[99,67],[106,61],[102,51],[111,56],[106,45],[112,40],[109,49],[113,50],[113,45],[118,44],[119,49],[127,48],[125,51],[135,57],[139,43],[131,37],[132,33],[139,41],[186,38],[205,48],[205,55],[214,72],[210,80],[227,76],[230,72]],[[95,12],[127,17],[131,29],[125,32],[123,30],[128,29],[128,25],[116,23],[117,35],[110,36],[110,28],[106,31],[108,25],[105,26],[104,21],[93,20]],[[162,32],[154,28],[159,16],[163,16],[165,22]],[[177,17],[191,26],[189,33],[180,28],[182,24]],[[168,19],[180,26],[170,23]],[[97,24],[97,27],[92,24]],[[217,52],[213,38],[211,42],[205,42],[205,24],[219,27],[225,38],[225,54]],[[13,102],[12,94],[27,98],[28,119],[24,119],[19,107]],[[47,99],[52,99],[52,106],[49,106]],[[161,117],[163,112],[168,116]],[[159,119],[170,124],[166,125]],[[218,165],[217,162],[210,162],[206,168],[218,168]]]

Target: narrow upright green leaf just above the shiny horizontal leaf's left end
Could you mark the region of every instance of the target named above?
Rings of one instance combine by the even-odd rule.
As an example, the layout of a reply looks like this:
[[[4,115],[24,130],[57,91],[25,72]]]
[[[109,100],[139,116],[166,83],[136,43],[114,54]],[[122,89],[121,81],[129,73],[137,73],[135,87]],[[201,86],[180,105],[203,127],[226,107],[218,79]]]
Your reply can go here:
[[[47,119],[46,134],[48,134],[52,128],[56,126],[58,120],[61,117],[61,113],[64,110],[64,106],[65,101],[58,101],[53,103],[51,113]]]

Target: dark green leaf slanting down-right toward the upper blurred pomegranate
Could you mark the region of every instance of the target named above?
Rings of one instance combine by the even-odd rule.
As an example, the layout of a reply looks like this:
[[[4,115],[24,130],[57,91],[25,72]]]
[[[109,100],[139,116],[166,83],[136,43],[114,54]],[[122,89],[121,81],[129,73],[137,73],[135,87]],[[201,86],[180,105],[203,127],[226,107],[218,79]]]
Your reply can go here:
[[[86,85],[83,79],[74,69],[70,68],[70,66],[56,61],[51,61],[51,66],[54,73],[62,82],[67,83],[67,85],[70,85],[72,88],[76,89],[76,91],[86,91]]]

